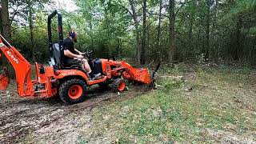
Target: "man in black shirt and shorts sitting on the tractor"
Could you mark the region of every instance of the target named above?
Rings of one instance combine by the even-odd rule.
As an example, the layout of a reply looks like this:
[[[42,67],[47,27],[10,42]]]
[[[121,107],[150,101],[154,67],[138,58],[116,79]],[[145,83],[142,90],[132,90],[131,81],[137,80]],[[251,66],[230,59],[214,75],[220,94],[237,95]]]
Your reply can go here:
[[[90,80],[98,79],[101,74],[93,74],[90,69],[90,65],[86,58],[82,56],[82,52],[74,48],[74,42],[78,42],[78,33],[75,31],[70,31],[69,37],[64,39],[63,47],[64,47],[64,56],[63,62],[67,65],[79,65],[82,66],[82,69],[87,72]]]

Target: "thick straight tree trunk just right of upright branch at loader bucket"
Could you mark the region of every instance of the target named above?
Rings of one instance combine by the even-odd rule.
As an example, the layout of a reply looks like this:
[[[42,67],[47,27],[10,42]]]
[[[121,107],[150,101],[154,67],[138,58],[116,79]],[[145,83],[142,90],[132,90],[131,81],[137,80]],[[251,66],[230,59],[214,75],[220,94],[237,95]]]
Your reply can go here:
[[[174,62],[174,56],[175,56],[175,51],[176,51],[176,47],[175,47],[175,1],[174,0],[170,0],[169,1],[169,14],[170,14],[170,18],[169,18],[169,22],[170,22],[170,31],[169,31],[169,37],[170,37],[170,52],[169,52],[169,61],[170,62]]]

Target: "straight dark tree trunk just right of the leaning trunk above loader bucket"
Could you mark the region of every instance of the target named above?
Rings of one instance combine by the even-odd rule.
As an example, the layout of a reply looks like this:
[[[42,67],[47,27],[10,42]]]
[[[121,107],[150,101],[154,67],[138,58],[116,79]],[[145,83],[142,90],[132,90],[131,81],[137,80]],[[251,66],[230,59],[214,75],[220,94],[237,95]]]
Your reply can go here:
[[[146,0],[143,0],[143,33],[142,33],[142,53],[141,53],[142,65],[144,65],[146,62],[145,47],[146,47]]]

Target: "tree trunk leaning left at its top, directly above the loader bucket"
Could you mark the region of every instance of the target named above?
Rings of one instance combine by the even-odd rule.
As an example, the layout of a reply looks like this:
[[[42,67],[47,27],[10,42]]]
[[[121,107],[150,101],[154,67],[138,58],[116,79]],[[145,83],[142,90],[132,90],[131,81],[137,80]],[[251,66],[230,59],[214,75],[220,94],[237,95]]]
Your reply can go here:
[[[129,2],[130,2],[131,10],[132,10],[132,17],[134,19],[134,25],[135,25],[135,30],[136,30],[136,42],[137,42],[136,55],[137,55],[137,63],[139,65],[140,64],[140,59],[141,59],[141,57],[140,57],[141,56],[141,50],[140,50],[140,44],[139,44],[140,32],[138,30],[139,23],[138,23],[138,17],[137,17],[137,14],[136,14],[136,10],[135,10],[134,0],[129,0]]]

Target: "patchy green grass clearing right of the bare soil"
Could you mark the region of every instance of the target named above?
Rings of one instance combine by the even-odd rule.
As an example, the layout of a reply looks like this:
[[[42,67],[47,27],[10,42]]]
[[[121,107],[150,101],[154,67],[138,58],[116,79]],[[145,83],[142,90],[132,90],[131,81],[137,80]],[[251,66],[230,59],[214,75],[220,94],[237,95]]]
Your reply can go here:
[[[190,69],[164,68],[160,74],[186,74]],[[158,90],[94,108],[95,129],[111,133],[117,143],[214,143],[230,134],[256,138],[256,99],[251,91],[256,87],[250,87],[256,71],[229,66],[193,69],[194,82],[158,78]],[[185,92],[186,83],[193,85],[192,91]]]

